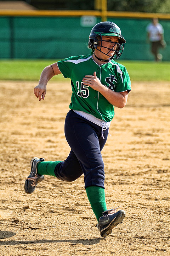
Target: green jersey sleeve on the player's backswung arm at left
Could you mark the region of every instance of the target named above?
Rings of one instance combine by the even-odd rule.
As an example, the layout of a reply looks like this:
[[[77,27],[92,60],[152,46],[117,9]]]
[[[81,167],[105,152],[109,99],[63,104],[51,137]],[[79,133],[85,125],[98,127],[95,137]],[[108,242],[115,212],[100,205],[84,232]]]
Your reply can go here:
[[[74,62],[72,62],[73,57],[66,58],[57,62],[60,72],[63,74],[64,78],[70,78],[72,74],[72,69],[74,67]]]

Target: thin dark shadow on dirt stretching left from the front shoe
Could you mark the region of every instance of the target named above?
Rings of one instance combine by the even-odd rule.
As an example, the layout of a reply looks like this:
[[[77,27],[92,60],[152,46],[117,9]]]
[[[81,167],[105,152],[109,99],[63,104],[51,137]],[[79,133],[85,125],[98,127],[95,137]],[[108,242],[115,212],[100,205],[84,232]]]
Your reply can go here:
[[[4,232],[4,231],[3,231]],[[12,232],[8,232],[12,233]],[[15,235],[15,233],[13,233]],[[11,235],[12,236],[12,235]],[[10,236],[8,236],[10,237]],[[2,239],[2,238],[1,238]],[[92,244],[97,244],[102,240],[103,238],[92,238],[92,239],[62,239],[62,240],[47,240],[47,239],[42,239],[42,240],[26,240],[26,241],[16,241],[16,240],[8,240],[8,241],[0,241],[0,245],[17,245],[17,244],[45,244],[45,243],[60,243],[60,242],[71,242],[72,244],[83,244],[83,245],[92,245]]]

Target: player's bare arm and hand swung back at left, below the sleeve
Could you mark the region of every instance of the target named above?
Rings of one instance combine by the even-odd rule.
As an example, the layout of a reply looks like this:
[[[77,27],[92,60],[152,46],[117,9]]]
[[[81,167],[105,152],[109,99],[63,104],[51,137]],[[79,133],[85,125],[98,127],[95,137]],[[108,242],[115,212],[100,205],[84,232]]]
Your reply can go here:
[[[39,101],[42,99],[44,100],[45,95],[46,95],[46,87],[47,87],[47,82],[50,81],[50,79],[54,75],[60,74],[60,70],[58,69],[57,63],[53,63],[50,66],[46,66],[44,70],[42,70],[39,84],[34,88],[34,94],[37,98],[39,98]]]

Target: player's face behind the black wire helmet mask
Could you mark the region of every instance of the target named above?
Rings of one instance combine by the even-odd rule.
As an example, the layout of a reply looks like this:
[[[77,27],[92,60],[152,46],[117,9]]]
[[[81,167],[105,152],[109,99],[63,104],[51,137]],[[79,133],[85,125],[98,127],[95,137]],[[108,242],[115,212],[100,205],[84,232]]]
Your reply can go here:
[[[102,36],[102,41],[99,41],[97,48],[102,52],[101,54],[105,55],[105,58],[106,54],[112,57],[118,47],[117,43],[119,43],[119,40],[116,36]]]

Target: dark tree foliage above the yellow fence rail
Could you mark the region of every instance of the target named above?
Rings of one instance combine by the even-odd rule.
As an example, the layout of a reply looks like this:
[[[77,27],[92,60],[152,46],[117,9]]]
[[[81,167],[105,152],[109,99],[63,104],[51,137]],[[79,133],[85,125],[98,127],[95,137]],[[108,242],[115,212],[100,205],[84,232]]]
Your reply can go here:
[[[6,1],[6,0],[4,0]],[[15,0],[13,0],[15,2]],[[41,10],[95,10],[100,0],[24,0]],[[100,8],[100,4],[99,8]],[[170,0],[107,0],[108,11],[170,13]]]

